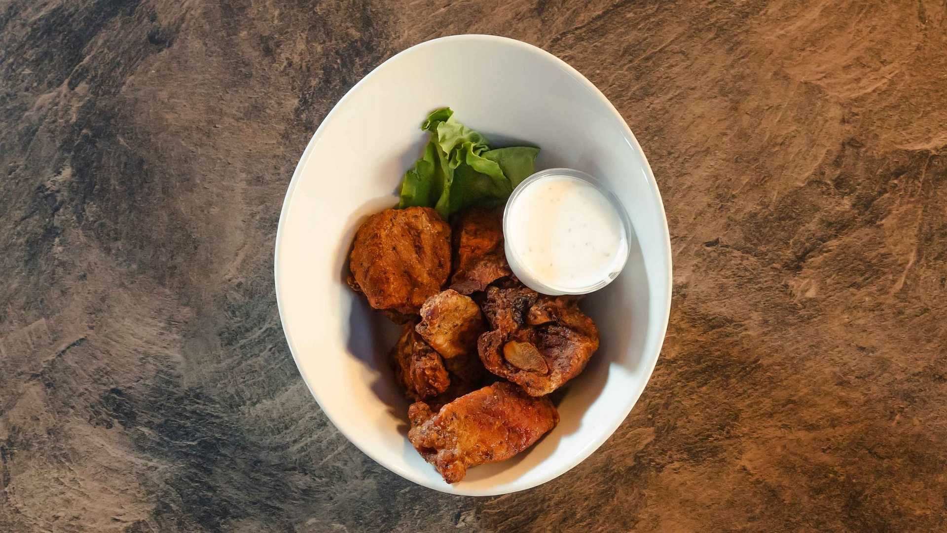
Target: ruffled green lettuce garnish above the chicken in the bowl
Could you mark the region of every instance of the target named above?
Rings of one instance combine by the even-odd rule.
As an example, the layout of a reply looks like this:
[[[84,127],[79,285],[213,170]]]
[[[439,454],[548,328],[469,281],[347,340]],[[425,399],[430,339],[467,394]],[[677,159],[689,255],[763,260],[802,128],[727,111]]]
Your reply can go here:
[[[433,207],[446,220],[468,207],[499,205],[535,170],[539,148],[491,150],[487,138],[457,121],[449,107],[431,113],[421,129],[428,142],[404,174],[400,209]]]

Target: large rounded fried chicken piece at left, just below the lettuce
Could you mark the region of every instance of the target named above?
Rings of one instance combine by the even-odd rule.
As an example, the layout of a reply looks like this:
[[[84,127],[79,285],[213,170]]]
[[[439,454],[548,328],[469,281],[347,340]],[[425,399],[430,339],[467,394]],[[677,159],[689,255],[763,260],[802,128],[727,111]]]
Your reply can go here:
[[[384,210],[355,233],[348,285],[396,322],[417,315],[451,270],[451,228],[431,208]]]

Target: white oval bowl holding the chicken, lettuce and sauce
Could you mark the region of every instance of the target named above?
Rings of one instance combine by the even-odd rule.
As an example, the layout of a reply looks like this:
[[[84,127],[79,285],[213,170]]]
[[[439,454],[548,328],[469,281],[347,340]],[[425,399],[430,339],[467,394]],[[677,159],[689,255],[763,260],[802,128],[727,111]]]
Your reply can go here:
[[[624,204],[632,253],[615,282],[583,308],[601,346],[559,404],[562,421],[509,461],[475,467],[448,485],[407,439],[408,402],[388,351],[397,327],[345,284],[359,224],[392,207],[420,155],[420,122],[449,105],[493,146],[535,144],[537,169],[598,177]],[[670,311],[670,239],[648,161],[615,107],[574,68],[535,46],[456,35],[413,46],[356,83],[319,125],[299,159],[279,218],[279,316],[323,412],[359,450],[424,487],[495,495],[535,487],[599,448],[651,376]]]

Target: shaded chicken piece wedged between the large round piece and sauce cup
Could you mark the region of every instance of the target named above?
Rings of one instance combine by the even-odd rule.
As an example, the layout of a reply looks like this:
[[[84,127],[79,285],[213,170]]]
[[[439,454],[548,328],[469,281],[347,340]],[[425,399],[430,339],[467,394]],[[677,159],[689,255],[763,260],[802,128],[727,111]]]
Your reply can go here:
[[[503,207],[472,208],[461,213],[454,229],[451,288],[471,294],[512,275],[503,249]]]

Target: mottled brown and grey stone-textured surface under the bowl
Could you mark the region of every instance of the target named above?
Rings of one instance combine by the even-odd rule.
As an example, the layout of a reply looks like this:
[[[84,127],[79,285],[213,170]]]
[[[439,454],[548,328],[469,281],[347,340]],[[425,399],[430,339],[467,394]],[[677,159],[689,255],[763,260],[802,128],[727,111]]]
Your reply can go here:
[[[447,496],[298,377],[280,202],[406,46],[597,83],[675,262],[633,413],[561,478]],[[944,530],[947,5],[0,0],[0,531]]]

